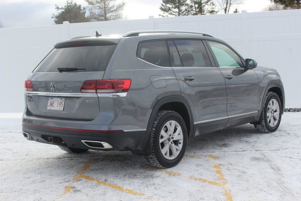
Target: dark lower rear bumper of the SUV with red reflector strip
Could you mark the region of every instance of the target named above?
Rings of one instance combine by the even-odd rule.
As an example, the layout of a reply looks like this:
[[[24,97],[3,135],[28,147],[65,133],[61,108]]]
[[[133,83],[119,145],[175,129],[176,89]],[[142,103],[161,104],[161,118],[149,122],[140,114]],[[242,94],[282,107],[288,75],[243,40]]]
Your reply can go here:
[[[127,151],[144,149],[143,143],[145,130],[138,131],[100,131],[100,130],[79,130],[22,124],[23,133],[28,140],[36,142],[68,146],[78,149],[93,149],[101,151]],[[24,134],[23,134],[24,135]],[[99,141],[112,146],[103,148],[95,143],[89,144],[83,141]],[[96,143],[101,145],[101,143]],[[97,147],[96,147],[97,146]],[[92,148],[94,147],[94,148]],[[96,147],[96,148],[95,148]]]

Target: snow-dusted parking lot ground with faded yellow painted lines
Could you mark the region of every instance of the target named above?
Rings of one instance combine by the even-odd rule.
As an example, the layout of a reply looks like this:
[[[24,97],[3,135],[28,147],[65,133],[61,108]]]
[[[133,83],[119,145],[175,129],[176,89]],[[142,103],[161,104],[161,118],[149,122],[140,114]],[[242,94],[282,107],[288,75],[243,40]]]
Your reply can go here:
[[[188,140],[176,167],[131,152],[70,154],[26,140],[21,114],[0,114],[0,200],[301,200],[301,112],[274,133],[253,125]]]

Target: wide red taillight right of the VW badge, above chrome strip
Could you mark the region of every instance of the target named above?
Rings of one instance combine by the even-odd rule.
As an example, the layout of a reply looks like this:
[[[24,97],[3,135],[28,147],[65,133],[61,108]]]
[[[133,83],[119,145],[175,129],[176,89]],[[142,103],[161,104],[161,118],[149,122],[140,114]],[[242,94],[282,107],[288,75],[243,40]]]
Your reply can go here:
[[[80,89],[82,93],[120,93],[129,91],[130,79],[86,80]]]

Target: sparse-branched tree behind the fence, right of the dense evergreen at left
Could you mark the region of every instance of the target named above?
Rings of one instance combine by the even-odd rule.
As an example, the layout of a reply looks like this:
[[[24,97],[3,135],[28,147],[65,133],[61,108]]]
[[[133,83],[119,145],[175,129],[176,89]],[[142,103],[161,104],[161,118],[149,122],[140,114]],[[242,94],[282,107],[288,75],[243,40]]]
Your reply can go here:
[[[88,18],[92,22],[124,19],[122,11],[125,2],[116,3],[116,0],[85,0],[85,2],[88,3]]]

